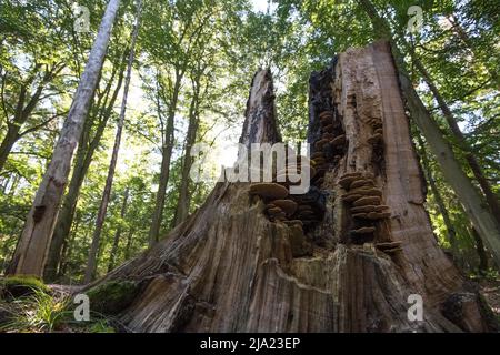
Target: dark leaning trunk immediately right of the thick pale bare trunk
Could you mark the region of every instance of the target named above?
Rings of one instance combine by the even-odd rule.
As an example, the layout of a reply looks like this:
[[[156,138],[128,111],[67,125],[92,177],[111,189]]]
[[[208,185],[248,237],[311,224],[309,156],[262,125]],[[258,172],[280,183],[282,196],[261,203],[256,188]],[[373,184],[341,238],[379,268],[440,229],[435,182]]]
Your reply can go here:
[[[126,63],[126,60],[123,60],[122,63]],[[123,67],[121,64],[118,65],[120,67],[119,77],[117,85],[111,95],[111,99],[110,100],[104,99],[102,105],[98,104],[99,106],[97,114],[98,116],[94,120],[98,120],[99,123],[96,128],[96,133],[90,143],[89,143],[90,132],[88,131],[90,131],[91,124],[86,124],[87,129],[83,132],[83,134],[81,134],[80,143],[78,144],[77,149],[73,172],[71,174],[71,180],[68,187],[68,193],[64,196],[64,201],[59,212],[56,229],[52,234],[52,241],[50,243],[50,250],[43,276],[46,281],[53,281],[56,276],[60,274],[58,273],[57,265],[60,264],[59,260],[61,255],[62,244],[68,239],[71,230],[74,211],[77,209],[78,196],[80,195],[80,189],[83,183],[83,179],[89,170],[90,163],[92,162],[93,153],[99,146],[102,134],[104,133],[106,125],[108,123],[109,118],[111,116],[111,113],[114,108],[114,102],[118,98],[118,93],[123,82],[124,65]],[[107,85],[108,88],[110,88],[109,85],[111,85],[113,77],[114,75],[111,75],[111,79]],[[108,91],[108,88],[104,91]]]

